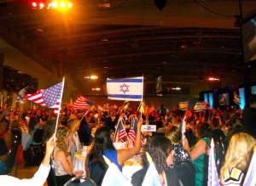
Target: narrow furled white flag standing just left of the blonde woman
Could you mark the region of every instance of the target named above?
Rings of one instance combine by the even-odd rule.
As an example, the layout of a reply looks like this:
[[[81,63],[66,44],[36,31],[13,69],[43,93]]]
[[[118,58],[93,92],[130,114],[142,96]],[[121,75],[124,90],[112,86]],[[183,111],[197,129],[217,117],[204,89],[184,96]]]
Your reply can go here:
[[[217,172],[214,154],[215,154],[215,147],[214,147],[214,142],[212,138],[211,149],[209,154],[209,164],[208,164],[208,183],[207,183],[208,186],[219,186],[218,172]]]

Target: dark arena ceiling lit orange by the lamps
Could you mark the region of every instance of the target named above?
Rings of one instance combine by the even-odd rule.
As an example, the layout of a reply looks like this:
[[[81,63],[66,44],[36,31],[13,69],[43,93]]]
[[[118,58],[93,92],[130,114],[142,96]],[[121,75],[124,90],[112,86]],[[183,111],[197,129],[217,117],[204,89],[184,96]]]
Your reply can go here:
[[[166,2],[160,10],[154,0],[74,0],[60,12],[32,8],[28,0],[0,0],[0,37],[84,93],[107,77],[144,76],[151,87],[158,76],[192,86],[209,76],[218,77],[219,86],[255,80],[235,26],[237,15],[255,11],[255,1]],[[84,76],[91,75],[99,80],[86,84]],[[3,88],[13,76],[4,71]]]

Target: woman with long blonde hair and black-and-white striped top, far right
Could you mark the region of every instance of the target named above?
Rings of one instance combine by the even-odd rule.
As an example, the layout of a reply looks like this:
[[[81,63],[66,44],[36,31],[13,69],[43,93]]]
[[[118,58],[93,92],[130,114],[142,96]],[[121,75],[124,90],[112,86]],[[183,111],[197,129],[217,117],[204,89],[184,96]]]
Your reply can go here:
[[[240,185],[250,164],[256,140],[247,133],[239,132],[230,139],[224,165],[220,169],[222,185]]]

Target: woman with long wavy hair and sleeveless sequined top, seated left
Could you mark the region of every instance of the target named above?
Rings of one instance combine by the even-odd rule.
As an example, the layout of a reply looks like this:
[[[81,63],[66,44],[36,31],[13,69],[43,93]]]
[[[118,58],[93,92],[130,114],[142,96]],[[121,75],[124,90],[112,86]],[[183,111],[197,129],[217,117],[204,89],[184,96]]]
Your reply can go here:
[[[57,128],[56,132],[56,148],[53,155],[53,164],[55,166],[55,178],[58,186],[62,186],[70,178],[75,176],[81,176],[84,172],[73,172],[73,164],[70,155],[70,150],[73,145],[73,141],[68,138],[69,130],[65,126]]]

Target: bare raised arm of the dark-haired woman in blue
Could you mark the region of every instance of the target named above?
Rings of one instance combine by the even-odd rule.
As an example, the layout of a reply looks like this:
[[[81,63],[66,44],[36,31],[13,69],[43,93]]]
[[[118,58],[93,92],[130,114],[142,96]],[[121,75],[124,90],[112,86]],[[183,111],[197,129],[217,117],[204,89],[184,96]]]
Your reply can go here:
[[[118,149],[118,162],[119,165],[123,165],[124,161],[129,160],[133,155],[136,155],[140,151],[142,145],[141,127],[143,125],[143,118],[140,118],[137,122],[137,135],[135,139],[134,147],[127,149]]]

